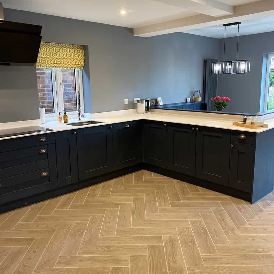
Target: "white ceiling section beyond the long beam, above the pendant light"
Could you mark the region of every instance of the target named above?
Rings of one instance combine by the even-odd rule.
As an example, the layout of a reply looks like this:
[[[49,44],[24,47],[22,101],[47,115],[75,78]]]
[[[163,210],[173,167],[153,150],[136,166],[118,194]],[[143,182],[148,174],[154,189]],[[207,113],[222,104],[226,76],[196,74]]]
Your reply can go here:
[[[269,31],[274,31],[274,16],[242,21],[239,26],[239,35],[248,35]],[[217,25],[194,30],[186,30],[183,32],[213,38],[224,38],[225,28],[223,25]],[[238,26],[230,26],[226,28],[226,37],[237,36],[237,34]]]

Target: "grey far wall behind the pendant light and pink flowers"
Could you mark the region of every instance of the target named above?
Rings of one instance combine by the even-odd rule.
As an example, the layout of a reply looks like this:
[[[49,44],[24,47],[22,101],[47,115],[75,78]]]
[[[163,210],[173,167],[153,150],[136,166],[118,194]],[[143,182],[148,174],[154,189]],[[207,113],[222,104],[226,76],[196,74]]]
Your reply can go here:
[[[223,60],[224,39],[220,40],[220,59]],[[231,98],[230,112],[258,112],[263,107],[266,63],[264,54],[274,52],[274,32],[239,37],[238,59],[250,60],[249,74],[219,75],[218,94]],[[226,39],[226,60],[236,60],[237,37]],[[263,83],[262,83],[263,74]],[[262,110],[262,109],[261,109]]]

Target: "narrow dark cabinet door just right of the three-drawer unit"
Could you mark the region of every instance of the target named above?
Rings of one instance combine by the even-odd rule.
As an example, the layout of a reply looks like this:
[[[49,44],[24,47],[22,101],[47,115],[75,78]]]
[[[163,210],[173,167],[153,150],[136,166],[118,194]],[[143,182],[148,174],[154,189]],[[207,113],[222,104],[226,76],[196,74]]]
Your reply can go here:
[[[58,186],[78,182],[76,130],[55,133]]]

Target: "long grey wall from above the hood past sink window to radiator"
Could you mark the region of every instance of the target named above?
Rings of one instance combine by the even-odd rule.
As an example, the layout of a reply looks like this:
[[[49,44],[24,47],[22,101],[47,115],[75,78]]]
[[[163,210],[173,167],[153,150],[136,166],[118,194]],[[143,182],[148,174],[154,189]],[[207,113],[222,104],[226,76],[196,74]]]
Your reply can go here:
[[[219,56],[214,38],[184,33],[134,37],[130,28],[14,9],[4,9],[4,14],[5,20],[42,25],[42,41],[87,46],[85,112],[131,109],[134,97],[182,102],[190,92],[202,90],[203,60]],[[32,96],[37,98],[35,92]],[[33,108],[37,113],[38,104]],[[9,109],[14,111],[12,104]]]

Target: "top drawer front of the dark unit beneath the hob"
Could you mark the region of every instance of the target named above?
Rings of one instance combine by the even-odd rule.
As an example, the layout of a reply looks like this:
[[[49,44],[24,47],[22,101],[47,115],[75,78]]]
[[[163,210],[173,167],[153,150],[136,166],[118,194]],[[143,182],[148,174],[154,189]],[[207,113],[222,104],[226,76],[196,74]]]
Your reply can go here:
[[[54,143],[54,133],[44,133],[33,136],[19,137],[0,141],[0,152],[12,151],[23,148],[32,148]]]

